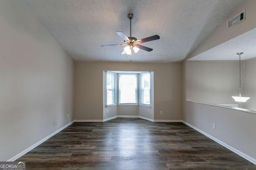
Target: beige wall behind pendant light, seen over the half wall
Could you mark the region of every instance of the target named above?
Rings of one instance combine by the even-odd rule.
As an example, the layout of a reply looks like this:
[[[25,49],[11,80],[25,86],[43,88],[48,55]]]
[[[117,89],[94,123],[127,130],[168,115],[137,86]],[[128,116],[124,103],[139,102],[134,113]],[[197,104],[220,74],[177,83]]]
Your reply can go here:
[[[186,61],[186,99],[210,104],[236,104],[239,61]]]

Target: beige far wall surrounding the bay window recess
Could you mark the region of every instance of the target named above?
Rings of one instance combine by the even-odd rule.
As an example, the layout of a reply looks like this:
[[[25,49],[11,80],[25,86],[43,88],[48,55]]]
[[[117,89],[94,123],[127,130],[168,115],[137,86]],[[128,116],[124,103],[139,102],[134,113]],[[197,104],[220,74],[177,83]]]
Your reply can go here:
[[[154,107],[150,109],[154,109],[154,119],[181,119],[181,63],[76,63],[75,70],[74,119],[102,120],[111,117],[104,116],[104,70],[153,71]],[[114,107],[112,109],[116,111]],[[163,111],[162,115],[160,111]],[[170,111],[173,111],[172,115]],[[152,115],[150,117],[153,118]]]

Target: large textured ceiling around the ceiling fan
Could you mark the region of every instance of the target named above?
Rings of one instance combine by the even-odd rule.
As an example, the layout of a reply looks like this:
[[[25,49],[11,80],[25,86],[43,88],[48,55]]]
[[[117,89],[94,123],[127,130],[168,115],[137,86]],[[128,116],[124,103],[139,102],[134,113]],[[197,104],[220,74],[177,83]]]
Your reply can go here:
[[[176,62],[188,56],[244,0],[20,0],[75,61]],[[116,31],[154,49],[121,55]]]

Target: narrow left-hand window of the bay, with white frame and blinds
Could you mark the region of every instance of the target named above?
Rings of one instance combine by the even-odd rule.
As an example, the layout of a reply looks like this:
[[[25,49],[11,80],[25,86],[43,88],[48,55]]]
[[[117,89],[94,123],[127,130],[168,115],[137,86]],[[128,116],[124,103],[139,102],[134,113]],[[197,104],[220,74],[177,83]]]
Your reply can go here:
[[[108,74],[112,77],[112,88],[108,88]],[[116,74],[114,72],[106,72],[106,107],[116,106]],[[108,104],[108,90],[112,91],[112,104]]]

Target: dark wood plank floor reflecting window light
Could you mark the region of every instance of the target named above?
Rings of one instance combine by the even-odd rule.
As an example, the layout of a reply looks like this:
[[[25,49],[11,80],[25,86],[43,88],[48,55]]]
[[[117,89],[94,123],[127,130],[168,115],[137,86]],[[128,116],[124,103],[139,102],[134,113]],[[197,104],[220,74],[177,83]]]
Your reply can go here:
[[[183,123],[140,118],[73,123],[16,161],[27,170],[256,170]]]

